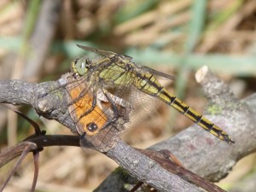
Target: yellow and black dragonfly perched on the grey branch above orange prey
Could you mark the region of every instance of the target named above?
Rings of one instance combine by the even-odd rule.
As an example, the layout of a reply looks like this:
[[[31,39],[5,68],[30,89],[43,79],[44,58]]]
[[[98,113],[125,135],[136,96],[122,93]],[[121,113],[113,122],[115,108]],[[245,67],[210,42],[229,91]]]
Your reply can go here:
[[[79,44],[77,46],[101,56],[97,60],[90,60],[83,55],[71,62],[72,73],[82,77],[84,82],[89,84],[90,88],[88,89],[90,89],[94,96],[96,96],[96,90],[103,90],[108,102],[113,103],[113,99],[106,95],[108,91],[114,90],[113,95],[120,97],[120,93],[125,95],[125,90],[132,87],[135,90],[143,92],[143,94],[152,96],[175,108],[179,113],[182,113],[195,124],[200,125],[201,128],[210,132],[213,136],[218,137],[226,143],[235,143],[228,133],[223,131],[218,125],[213,124],[212,121],[204,117],[201,113],[196,112],[189,105],[182,102],[176,96],[173,96],[160,84],[158,79],[174,80],[175,78],[172,75],[161,73],[150,67],[137,65],[132,61],[132,57],[128,55],[120,55],[112,51],[90,48]],[[96,104],[93,103],[95,102],[91,103],[91,108],[84,115],[94,110]],[[112,122],[114,122],[119,118],[119,112],[114,107],[114,103],[112,107]]]

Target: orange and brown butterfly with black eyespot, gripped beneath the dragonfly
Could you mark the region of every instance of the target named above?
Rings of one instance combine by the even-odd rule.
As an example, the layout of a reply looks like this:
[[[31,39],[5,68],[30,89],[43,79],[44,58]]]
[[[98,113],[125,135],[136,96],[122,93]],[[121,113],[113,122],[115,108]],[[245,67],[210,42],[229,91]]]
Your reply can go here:
[[[84,77],[71,78],[68,83],[67,96],[71,103],[68,111],[82,136],[81,145],[101,151],[111,148],[113,140],[119,138],[125,129],[124,124],[129,121],[131,104],[110,93],[111,100],[108,100],[102,88],[90,85]],[[96,106],[92,108],[94,99]],[[118,109],[119,118],[112,123],[113,105]],[[88,111],[90,113],[86,113]]]

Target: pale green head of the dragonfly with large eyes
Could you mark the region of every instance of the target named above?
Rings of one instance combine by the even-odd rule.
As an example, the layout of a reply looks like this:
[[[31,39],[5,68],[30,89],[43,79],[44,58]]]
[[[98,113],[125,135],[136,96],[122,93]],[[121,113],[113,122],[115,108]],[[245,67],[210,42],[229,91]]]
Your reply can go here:
[[[74,59],[71,62],[71,71],[73,73],[78,73],[79,76],[83,76],[85,73],[88,73],[91,67],[92,64],[90,60],[84,56],[81,58]]]

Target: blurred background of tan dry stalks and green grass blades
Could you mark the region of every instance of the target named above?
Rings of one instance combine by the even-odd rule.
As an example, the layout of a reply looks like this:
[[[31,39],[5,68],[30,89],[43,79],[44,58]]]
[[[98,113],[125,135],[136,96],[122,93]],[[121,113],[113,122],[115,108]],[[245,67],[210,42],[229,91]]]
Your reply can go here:
[[[139,64],[176,76],[175,82],[163,84],[202,113],[207,100],[194,77],[204,65],[230,84],[238,98],[255,92],[255,29],[255,0],[2,0],[0,79],[59,79],[75,56],[87,54],[76,46],[84,44],[130,55]],[[32,108],[17,108],[48,134],[71,134],[57,122],[39,118]],[[125,133],[125,142],[147,148],[191,125],[170,109],[160,103],[143,117],[146,121]],[[0,108],[1,150],[32,133],[24,119]],[[117,167],[102,154],[73,147],[45,148],[39,164],[38,191],[91,191]],[[0,183],[13,165],[1,168]],[[32,177],[29,155],[5,191],[28,191]],[[255,180],[256,154],[251,154],[218,185],[249,191],[246,187]]]

